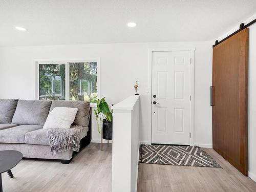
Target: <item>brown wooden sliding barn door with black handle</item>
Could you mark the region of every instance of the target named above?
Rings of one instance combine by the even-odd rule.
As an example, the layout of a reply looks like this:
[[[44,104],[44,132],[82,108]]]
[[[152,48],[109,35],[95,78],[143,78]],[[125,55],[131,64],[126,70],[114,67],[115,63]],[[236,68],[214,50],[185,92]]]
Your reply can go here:
[[[247,176],[248,28],[221,42],[213,51],[213,148]]]

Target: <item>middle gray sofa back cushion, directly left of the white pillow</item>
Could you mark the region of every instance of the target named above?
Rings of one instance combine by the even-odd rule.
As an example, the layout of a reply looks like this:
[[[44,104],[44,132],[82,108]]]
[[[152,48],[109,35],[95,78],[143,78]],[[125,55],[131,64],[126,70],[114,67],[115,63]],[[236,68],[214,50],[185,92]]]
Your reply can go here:
[[[51,103],[46,100],[19,100],[12,123],[44,125]]]

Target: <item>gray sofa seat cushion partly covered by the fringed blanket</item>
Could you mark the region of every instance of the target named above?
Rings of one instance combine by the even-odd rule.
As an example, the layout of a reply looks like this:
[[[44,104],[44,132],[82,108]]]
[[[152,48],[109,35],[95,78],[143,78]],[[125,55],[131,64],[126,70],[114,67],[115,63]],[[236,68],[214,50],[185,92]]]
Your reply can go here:
[[[81,138],[87,136],[88,127],[83,127]],[[28,132],[25,135],[25,143],[35,145],[50,145],[47,137],[47,129],[39,129],[32,132]]]

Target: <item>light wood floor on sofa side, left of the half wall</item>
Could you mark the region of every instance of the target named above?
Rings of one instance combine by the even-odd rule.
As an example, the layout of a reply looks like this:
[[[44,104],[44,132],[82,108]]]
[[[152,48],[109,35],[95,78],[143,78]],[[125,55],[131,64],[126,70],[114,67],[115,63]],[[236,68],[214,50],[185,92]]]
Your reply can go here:
[[[111,191],[112,146],[91,143],[70,164],[23,159],[12,169],[14,178],[2,174],[4,192]]]

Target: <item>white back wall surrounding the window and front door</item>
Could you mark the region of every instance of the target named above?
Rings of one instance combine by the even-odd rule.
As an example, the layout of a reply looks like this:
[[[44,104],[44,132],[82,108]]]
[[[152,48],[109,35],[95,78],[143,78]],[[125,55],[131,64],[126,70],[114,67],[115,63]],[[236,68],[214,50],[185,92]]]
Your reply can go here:
[[[212,42],[159,42],[0,48],[0,98],[35,98],[33,59],[100,57],[101,97],[117,103],[134,93],[139,81],[140,140],[148,140],[148,49],[196,48],[195,51],[195,143],[211,147]],[[93,140],[100,141],[94,123]]]

